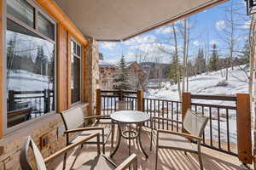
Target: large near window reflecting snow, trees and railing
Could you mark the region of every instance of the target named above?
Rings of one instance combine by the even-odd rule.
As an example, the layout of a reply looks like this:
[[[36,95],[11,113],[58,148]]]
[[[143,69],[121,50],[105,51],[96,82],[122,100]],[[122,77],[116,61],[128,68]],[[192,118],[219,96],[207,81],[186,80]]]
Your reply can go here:
[[[7,127],[55,111],[55,42],[51,41],[55,23],[50,31],[41,29],[43,14],[31,18],[34,7],[24,0],[7,1],[13,3],[16,6],[8,7],[11,17],[8,15],[6,31]],[[38,29],[31,29],[34,20],[38,20]],[[49,26],[44,24],[42,27]]]

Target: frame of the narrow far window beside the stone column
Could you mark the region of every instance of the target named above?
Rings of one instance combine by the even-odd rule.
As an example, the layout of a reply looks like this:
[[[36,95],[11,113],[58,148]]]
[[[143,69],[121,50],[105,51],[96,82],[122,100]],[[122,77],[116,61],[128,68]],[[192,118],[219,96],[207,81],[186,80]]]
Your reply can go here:
[[[76,102],[74,102],[74,103],[72,103],[72,98],[73,98],[73,94],[72,94],[72,88],[71,88],[71,86],[70,86],[70,90],[71,90],[71,106],[73,106],[73,105],[78,105],[79,103],[81,103],[82,102],[82,45],[74,38],[74,37],[71,37],[71,41],[70,41],[70,43],[72,44],[72,42],[75,42],[77,45],[79,45],[79,47],[80,47],[80,56],[78,56],[77,54],[74,54],[74,53],[72,53],[72,45],[70,45],[70,57],[72,58],[72,55],[74,55],[74,57],[77,57],[77,58],[79,58],[80,59],[80,99],[79,99],[79,101],[76,101]],[[77,49],[76,49],[77,50]],[[72,61],[71,61],[71,63],[70,63],[70,67],[71,67],[71,69],[72,69]],[[71,72],[71,74],[72,74],[72,72]],[[72,75],[71,75],[71,77],[72,77]],[[70,81],[71,81],[71,79],[70,79]],[[71,82],[68,82],[68,83],[71,83]]]

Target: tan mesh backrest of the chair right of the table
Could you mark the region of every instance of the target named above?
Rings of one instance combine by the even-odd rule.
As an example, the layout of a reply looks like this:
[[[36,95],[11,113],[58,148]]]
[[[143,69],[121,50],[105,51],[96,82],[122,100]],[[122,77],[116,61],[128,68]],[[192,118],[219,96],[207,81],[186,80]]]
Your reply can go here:
[[[183,119],[183,128],[194,136],[201,137],[207,126],[208,117],[188,109]]]

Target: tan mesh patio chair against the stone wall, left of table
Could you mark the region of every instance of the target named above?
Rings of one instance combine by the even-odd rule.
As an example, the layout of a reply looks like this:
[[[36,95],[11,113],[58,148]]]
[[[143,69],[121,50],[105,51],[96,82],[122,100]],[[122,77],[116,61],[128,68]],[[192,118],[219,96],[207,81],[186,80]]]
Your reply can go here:
[[[84,112],[80,107],[74,107],[67,111],[62,111],[61,117],[66,128],[64,133],[66,135],[67,145],[76,143],[80,139],[83,139],[84,136],[99,132],[101,134],[100,144],[102,144],[102,151],[105,154],[105,144],[108,142],[108,138],[111,134],[111,130],[109,128],[96,127],[96,124],[93,124],[91,127],[84,127],[85,120],[92,119],[94,116],[84,117]],[[84,144],[96,144],[96,139],[90,139]],[[66,159],[67,154],[64,155],[65,164]]]

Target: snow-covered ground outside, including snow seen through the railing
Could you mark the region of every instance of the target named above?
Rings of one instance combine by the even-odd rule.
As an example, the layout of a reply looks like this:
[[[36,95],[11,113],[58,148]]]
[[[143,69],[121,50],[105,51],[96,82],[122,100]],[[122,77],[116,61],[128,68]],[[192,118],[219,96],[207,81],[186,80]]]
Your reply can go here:
[[[241,69],[242,68],[242,69]],[[224,70],[203,73],[201,75],[189,77],[189,92],[191,94],[210,94],[210,95],[236,95],[237,93],[248,93],[248,68],[246,65],[236,66],[234,70],[229,69],[229,80],[225,85],[219,85],[225,80]],[[247,73],[246,73],[247,72]],[[149,89],[145,94],[150,99],[167,99],[179,101],[177,84],[171,85],[170,82],[164,82],[160,89]],[[230,105],[235,106],[232,101],[215,100],[193,100],[196,103],[211,105]],[[200,110],[200,109],[199,109]],[[209,108],[204,108],[206,116],[209,116]],[[220,139],[221,142],[227,142],[227,126],[230,128],[230,144],[236,144],[236,111],[229,110],[229,122],[227,123],[226,110],[220,110]],[[176,117],[176,116],[174,116]],[[179,114],[179,120],[181,115]],[[212,139],[218,142],[218,110],[212,109]],[[207,124],[205,133],[206,139],[210,139],[210,126]]]

